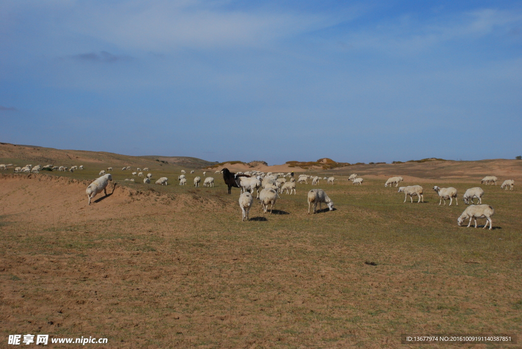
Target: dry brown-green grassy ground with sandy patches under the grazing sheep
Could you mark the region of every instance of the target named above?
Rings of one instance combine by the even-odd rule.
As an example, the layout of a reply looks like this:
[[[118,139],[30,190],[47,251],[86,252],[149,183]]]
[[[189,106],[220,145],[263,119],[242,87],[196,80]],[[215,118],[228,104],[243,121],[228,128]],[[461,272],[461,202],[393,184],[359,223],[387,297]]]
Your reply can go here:
[[[13,153],[0,163],[29,160]],[[401,333],[522,341],[522,161],[350,166],[318,186],[334,211],[307,214],[315,186],[298,185],[272,214],[255,201],[242,222],[239,189],[228,195],[221,175],[207,173],[215,188],[193,187],[201,170],[179,186],[180,170],[192,168],[136,158],[169,185],[129,183],[124,160],[99,155],[74,173],[0,171],[4,339],[92,335],[109,344],[89,346],[107,348],[408,347]],[[107,166],[115,186],[87,206],[85,188]],[[348,182],[352,172],[363,186]],[[499,185],[481,186],[482,174]],[[388,175],[422,185],[424,203],[403,203],[384,187]],[[513,191],[500,188],[508,178]],[[434,185],[457,188],[458,206],[438,206]],[[474,186],[495,209],[492,231],[457,226]]]

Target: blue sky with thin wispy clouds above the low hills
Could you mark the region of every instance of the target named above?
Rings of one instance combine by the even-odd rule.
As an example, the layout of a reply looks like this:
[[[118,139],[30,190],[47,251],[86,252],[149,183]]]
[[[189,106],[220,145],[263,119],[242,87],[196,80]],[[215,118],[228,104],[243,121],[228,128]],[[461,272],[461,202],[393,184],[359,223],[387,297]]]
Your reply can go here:
[[[0,0],[0,141],[209,161],[514,158],[516,1]]]

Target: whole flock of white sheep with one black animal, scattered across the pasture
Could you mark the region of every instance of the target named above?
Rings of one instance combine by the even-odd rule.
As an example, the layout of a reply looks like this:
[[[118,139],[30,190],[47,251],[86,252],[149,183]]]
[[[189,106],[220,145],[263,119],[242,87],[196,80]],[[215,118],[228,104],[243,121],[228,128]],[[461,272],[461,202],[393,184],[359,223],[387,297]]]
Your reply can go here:
[[[0,170],[7,170],[8,166],[16,166],[13,164],[0,164]],[[37,165],[32,167],[32,165],[26,165],[24,167],[16,167],[14,172],[15,173],[39,173],[42,169],[49,169],[51,171],[58,170],[67,172],[74,172],[75,170],[83,170],[84,166],[72,166],[70,169],[68,169],[65,166],[53,166],[53,165],[46,165],[41,166]],[[128,171],[131,170],[131,166],[126,166],[122,168],[122,171]],[[105,195],[107,195],[106,187],[109,184],[109,182],[112,180],[112,176],[110,172],[113,171],[112,167],[108,167],[107,170],[101,170],[99,175],[100,177],[94,180],[86,189],[87,197],[88,197],[88,204],[91,204],[91,199],[94,198],[96,195],[98,195],[100,192],[104,191]],[[148,167],[144,167],[143,171],[149,171]],[[139,167],[137,167],[137,172],[132,172],[133,177],[145,177],[143,179],[144,184],[150,184],[150,178],[152,178],[152,174],[148,173],[146,176]],[[193,174],[195,171],[192,170],[191,174]],[[215,174],[223,173],[223,179],[225,180],[226,184],[229,186],[229,194],[231,194],[231,187],[237,187],[241,188],[241,194],[239,197],[239,206],[242,211],[242,219],[248,220],[248,212],[250,211],[250,208],[252,207],[253,203],[253,196],[254,190],[257,191],[256,198],[259,199],[263,211],[266,213],[268,210],[268,206],[270,206],[270,213],[272,212],[272,208],[274,207],[274,204],[276,203],[277,199],[279,198],[279,194],[282,194],[284,191],[286,191],[286,194],[293,194],[295,195],[295,178],[293,177],[293,173],[264,173],[260,171],[248,171],[248,172],[238,172],[238,173],[231,173],[228,169],[218,170],[215,172]],[[203,176],[206,176],[206,171],[203,171]],[[287,180],[287,177],[289,178]],[[179,180],[180,185],[186,185],[187,179],[186,179],[186,172],[185,170],[181,170],[181,175],[177,178]],[[334,184],[335,177],[324,177],[320,178],[318,176],[310,176],[301,174],[298,177],[297,183],[304,183],[308,184],[308,179],[312,179],[312,185],[318,185],[319,181],[321,179],[326,180],[327,184]],[[354,185],[362,185],[363,178],[358,177],[357,174],[351,174],[348,177],[349,180],[352,181],[352,184]],[[126,178],[125,180],[130,180],[134,182],[134,178]],[[206,177],[203,183],[203,186],[205,187],[213,187],[214,186],[214,178],[213,177]],[[156,184],[158,185],[167,185],[168,178],[167,177],[161,177],[156,181]],[[194,186],[199,187],[199,183],[201,182],[201,177],[196,176],[194,178]],[[399,183],[404,182],[404,178],[401,176],[397,177],[391,177],[386,180],[386,183],[384,184],[385,187],[395,187],[397,188]],[[481,180],[481,184],[485,185],[496,185],[497,177],[495,176],[486,176]],[[504,183],[502,183],[501,188],[507,190],[509,187],[509,190],[513,190],[513,186],[515,185],[515,181],[513,179],[506,179]],[[453,187],[449,188],[440,188],[438,186],[434,186],[433,190],[437,193],[437,195],[440,197],[440,200],[438,202],[439,205],[442,204],[442,201],[444,201],[444,204],[446,204],[446,200],[449,200],[449,206],[452,205],[453,199],[455,199],[455,203],[458,206],[458,200],[457,200],[457,189]],[[423,196],[423,188],[420,185],[413,185],[413,186],[406,186],[406,187],[399,187],[398,192],[404,192],[405,198],[404,202],[406,202],[408,196],[410,197],[411,202],[413,202],[413,197],[417,196],[419,202],[424,202],[424,196]],[[480,187],[474,187],[467,189],[464,193],[464,196],[462,199],[464,200],[464,203],[469,204],[471,203],[471,206],[466,208],[464,212],[459,216],[457,219],[457,224],[460,226],[466,219],[469,219],[468,227],[471,225],[471,221],[474,219],[475,227],[477,227],[477,219],[479,218],[485,218],[486,224],[484,225],[484,228],[488,226],[490,230],[492,229],[492,220],[491,216],[494,214],[494,209],[489,206],[488,204],[482,204],[482,196],[484,195],[484,190]],[[477,204],[473,202],[474,199],[477,199]],[[334,209],[334,203],[333,201],[326,195],[326,192],[322,189],[312,189],[308,192],[307,195],[307,201],[308,201],[308,213],[310,213],[310,208],[313,205],[313,213],[316,212],[317,204],[319,204],[319,209],[321,209],[321,204],[325,203],[330,211]]]

